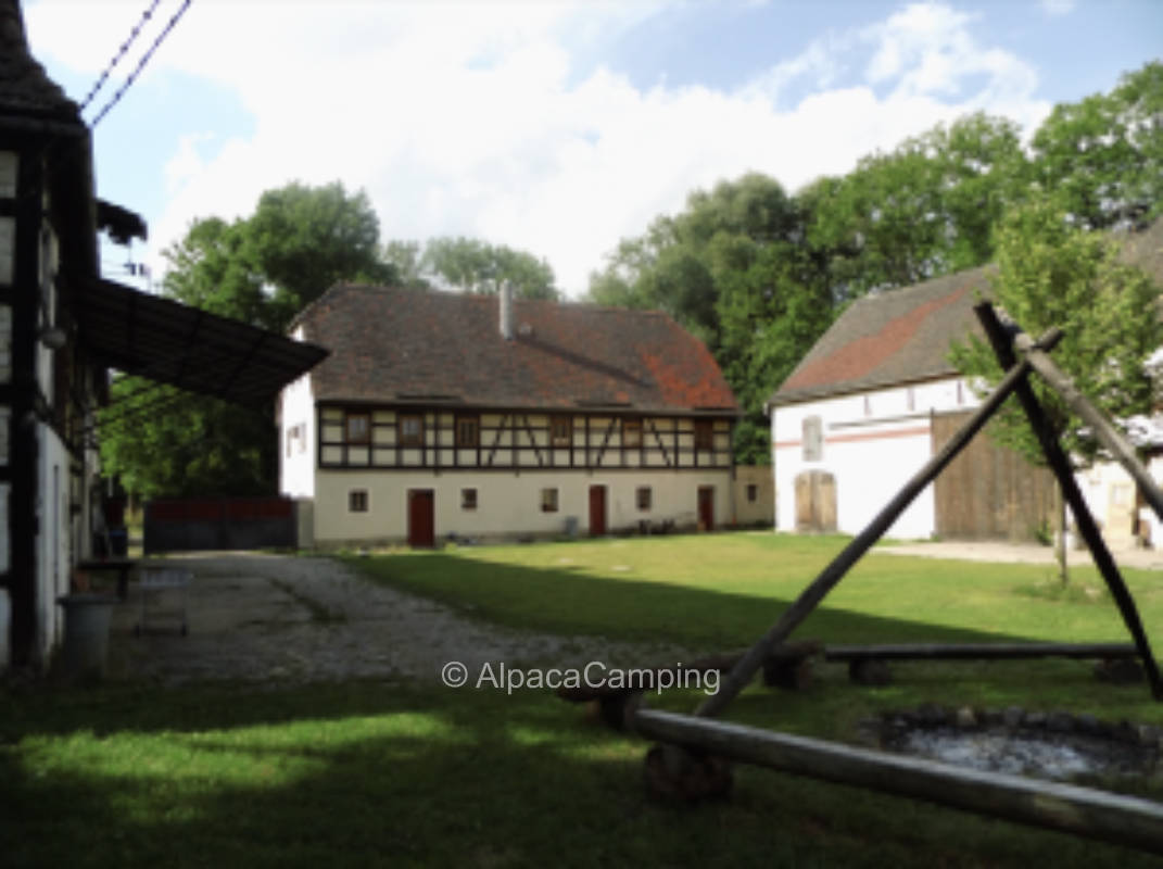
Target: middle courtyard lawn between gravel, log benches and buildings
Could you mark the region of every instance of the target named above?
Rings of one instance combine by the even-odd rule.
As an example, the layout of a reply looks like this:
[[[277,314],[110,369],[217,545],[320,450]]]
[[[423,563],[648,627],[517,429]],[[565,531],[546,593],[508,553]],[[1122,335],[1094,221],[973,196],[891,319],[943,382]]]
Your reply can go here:
[[[747,533],[398,553],[349,563],[505,625],[727,649],[754,642],[844,542]],[[1063,596],[1050,567],[870,555],[797,635],[835,642],[1126,639],[1093,568],[1075,568],[1072,577]],[[1143,621],[1163,631],[1163,577],[1126,577]],[[1094,605],[1069,605],[1079,601]],[[1163,646],[1163,634],[1156,642]]]

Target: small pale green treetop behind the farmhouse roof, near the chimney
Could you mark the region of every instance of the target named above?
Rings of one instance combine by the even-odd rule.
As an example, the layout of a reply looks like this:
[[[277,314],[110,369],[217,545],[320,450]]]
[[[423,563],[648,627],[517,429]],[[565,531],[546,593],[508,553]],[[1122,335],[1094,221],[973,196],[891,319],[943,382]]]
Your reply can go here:
[[[509,282],[519,299],[559,297],[554,270],[533,254],[478,238],[430,238],[420,259],[421,270],[444,285],[465,293],[497,293]]]

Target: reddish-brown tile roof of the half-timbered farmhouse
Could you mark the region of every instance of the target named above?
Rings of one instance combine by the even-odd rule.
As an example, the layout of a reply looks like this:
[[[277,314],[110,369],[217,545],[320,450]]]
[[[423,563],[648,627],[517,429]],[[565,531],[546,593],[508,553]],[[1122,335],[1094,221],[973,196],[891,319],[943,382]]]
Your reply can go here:
[[[497,297],[340,284],[292,328],[331,351],[312,371],[320,400],[737,412],[711,352],[665,314],[518,300],[506,341],[498,308]]]

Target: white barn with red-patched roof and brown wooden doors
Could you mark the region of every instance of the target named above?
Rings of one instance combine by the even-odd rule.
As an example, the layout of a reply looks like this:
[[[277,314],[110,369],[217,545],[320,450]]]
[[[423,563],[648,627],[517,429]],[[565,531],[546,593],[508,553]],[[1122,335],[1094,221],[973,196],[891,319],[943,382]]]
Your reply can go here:
[[[1163,221],[1130,236],[1122,256],[1158,280]],[[855,301],[768,401],[776,528],[861,532],[969,416],[978,400],[949,362],[950,343],[982,335],[973,305],[993,266],[948,275]],[[1144,312],[1147,315],[1148,312]],[[1163,443],[1144,421],[1146,443]],[[1151,468],[1163,472],[1157,455]],[[1158,473],[1156,475],[1158,476]],[[1113,548],[1161,536],[1118,465],[1078,483]],[[1030,539],[1053,527],[1054,484],[987,434],[897,520],[900,539]]]

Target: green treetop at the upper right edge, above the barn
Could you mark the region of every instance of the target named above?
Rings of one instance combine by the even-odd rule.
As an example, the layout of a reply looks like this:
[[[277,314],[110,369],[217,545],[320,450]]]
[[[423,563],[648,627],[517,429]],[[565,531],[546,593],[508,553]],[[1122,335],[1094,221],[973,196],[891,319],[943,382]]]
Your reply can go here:
[[[1163,62],[1108,94],[1055,106],[1034,134],[1042,192],[1083,227],[1142,225],[1163,212]]]

